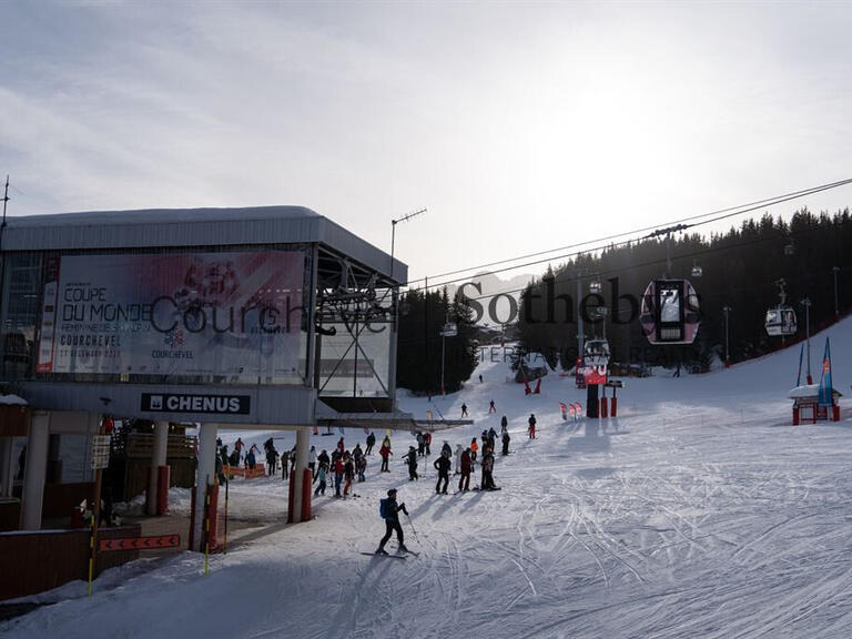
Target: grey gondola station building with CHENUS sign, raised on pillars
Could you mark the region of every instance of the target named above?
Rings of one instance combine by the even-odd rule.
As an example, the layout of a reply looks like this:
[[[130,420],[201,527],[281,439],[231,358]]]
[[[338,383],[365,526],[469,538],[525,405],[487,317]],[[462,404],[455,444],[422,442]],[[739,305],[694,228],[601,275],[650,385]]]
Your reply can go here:
[[[22,216],[0,233],[3,529],[42,528],[51,487],[91,494],[115,419],[154,423],[161,501],[170,424],[197,428],[199,503],[220,428],[295,429],[293,521],[311,517],[310,428],[415,424],[394,399],[407,267],[308,209]]]

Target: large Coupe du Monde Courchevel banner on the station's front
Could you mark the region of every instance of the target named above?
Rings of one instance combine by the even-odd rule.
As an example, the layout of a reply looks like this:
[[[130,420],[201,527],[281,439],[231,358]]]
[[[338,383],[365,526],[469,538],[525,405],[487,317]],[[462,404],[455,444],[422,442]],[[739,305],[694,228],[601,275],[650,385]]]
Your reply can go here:
[[[298,376],[304,254],[49,260],[39,373]]]

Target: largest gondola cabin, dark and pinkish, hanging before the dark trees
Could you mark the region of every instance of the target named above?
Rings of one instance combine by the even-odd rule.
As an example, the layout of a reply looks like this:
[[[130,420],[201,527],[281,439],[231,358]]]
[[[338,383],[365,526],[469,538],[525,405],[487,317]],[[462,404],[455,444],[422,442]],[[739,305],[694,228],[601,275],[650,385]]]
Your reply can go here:
[[[701,312],[689,280],[655,280],[642,295],[642,332],[651,344],[692,344]]]

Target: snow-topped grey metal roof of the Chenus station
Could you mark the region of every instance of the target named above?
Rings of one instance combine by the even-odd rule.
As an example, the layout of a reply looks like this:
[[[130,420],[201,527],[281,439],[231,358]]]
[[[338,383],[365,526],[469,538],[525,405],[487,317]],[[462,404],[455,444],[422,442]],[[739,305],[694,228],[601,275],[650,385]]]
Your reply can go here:
[[[322,244],[405,283],[408,267],[304,206],[144,209],[7,217],[4,251],[80,251],[240,244]]]

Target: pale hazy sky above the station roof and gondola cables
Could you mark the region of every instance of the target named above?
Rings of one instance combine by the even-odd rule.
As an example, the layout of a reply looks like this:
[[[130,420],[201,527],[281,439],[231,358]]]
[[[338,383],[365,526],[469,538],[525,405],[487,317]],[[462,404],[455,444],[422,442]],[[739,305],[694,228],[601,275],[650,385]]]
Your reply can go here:
[[[851,30],[848,2],[7,1],[0,172],[10,215],[298,204],[388,251],[425,206],[416,278],[852,176]]]

